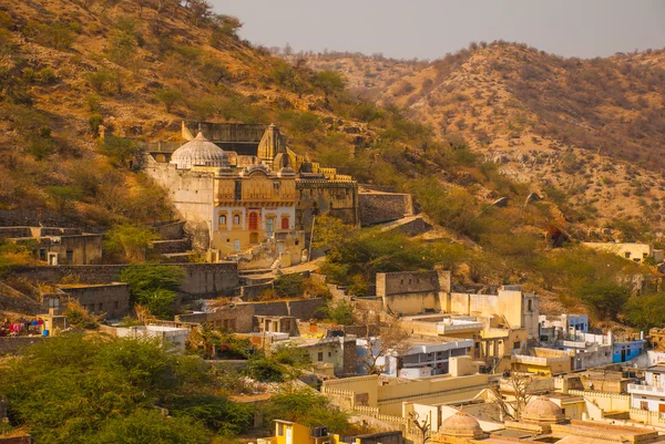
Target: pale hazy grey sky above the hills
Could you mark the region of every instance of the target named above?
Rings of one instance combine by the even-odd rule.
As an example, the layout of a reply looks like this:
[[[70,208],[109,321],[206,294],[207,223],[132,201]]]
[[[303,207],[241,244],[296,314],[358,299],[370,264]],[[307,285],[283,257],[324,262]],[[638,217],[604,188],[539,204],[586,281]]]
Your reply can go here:
[[[436,59],[504,39],[566,56],[665,47],[665,0],[211,0],[241,35],[294,50]]]

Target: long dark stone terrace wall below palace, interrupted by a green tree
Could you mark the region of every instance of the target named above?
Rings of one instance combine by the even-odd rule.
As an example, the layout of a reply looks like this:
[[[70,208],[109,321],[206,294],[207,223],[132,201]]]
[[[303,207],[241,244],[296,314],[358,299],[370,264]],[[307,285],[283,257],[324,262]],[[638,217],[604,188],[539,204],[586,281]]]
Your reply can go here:
[[[180,291],[184,299],[235,296],[238,288],[238,271],[235,262],[174,264],[185,270],[185,281]],[[120,281],[126,265],[17,267],[11,273],[45,283],[60,283],[64,277],[81,283],[109,283]]]

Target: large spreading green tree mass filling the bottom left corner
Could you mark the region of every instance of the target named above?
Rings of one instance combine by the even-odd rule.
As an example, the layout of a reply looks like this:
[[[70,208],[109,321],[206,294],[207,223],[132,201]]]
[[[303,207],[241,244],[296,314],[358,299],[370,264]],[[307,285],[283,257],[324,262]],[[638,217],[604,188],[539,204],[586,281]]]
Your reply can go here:
[[[209,416],[187,411],[215,393],[198,358],[170,353],[153,340],[68,334],[48,342],[0,366],[10,425],[29,428],[35,442],[211,442],[216,430],[205,428]],[[187,397],[193,400],[182,401]],[[226,419],[218,413],[218,421],[236,425],[234,431],[246,427],[247,415],[234,413],[233,406]]]

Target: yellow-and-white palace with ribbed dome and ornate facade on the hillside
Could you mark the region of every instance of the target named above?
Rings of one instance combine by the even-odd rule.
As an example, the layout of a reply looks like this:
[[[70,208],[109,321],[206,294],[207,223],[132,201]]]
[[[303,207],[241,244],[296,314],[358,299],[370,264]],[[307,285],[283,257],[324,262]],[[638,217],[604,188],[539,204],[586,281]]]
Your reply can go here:
[[[357,183],[296,155],[275,125],[258,138],[259,127],[183,122],[188,142],[149,144],[146,173],[168,190],[194,247],[212,260],[297,264],[317,215],[358,224]]]

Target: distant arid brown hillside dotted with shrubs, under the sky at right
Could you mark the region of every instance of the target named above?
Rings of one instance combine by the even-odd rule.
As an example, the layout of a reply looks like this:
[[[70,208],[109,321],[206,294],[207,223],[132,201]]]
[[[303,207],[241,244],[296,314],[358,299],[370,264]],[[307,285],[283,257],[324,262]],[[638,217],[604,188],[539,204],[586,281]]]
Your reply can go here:
[[[305,60],[340,71],[368,100],[406,109],[439,137],[462,135],[509,177],[590,226],[633,218],[653,228],[665,203],[664,54],[563,59],[495,42],[433,62],[335,53]]]

